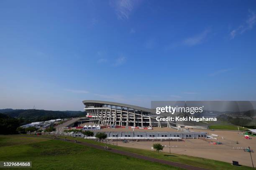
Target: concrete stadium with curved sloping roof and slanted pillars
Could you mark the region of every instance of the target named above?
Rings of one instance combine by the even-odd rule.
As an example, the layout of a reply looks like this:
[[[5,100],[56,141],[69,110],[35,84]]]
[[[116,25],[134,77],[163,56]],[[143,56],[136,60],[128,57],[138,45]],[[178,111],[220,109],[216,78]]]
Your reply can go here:
[[[153,109],[99,100],[84,100],[83,103],[91,123],[134,127],[162,127],[164,125],[176,128],[174,122],[157,121],[156,117],[163,115],[156,115]],[[172,123],[174,126],[171,125]]]

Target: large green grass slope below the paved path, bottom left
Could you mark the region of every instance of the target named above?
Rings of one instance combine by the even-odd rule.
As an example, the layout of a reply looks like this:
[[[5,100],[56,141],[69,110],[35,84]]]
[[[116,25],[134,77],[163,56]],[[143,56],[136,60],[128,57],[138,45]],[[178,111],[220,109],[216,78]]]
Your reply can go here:
[[[26,144],[28,143],[28,144]],[[32,161],[32,168],[21,170],[178,170],[52,138],[0,135],[0,161]],[[8,168],[5,168],[8,169]],[[9,168],[13,169],[13,168]]]

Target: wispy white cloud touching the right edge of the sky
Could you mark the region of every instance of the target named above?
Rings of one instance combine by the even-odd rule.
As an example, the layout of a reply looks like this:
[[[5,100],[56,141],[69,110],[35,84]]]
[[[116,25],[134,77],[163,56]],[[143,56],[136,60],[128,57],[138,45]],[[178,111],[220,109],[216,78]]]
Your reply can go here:
[[[248,10],[248,12],[249,15],[246,22],[230,32],[230,39],[234,39],[236,35],[243,34],[247,30],[251,30],[253,28],[256,23],[256,14],[251,10]]]

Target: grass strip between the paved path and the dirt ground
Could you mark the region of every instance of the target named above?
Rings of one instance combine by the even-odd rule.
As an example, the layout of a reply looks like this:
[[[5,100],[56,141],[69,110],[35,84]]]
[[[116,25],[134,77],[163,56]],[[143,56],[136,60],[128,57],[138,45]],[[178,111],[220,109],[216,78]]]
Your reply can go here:
[[[61,137],[62,138],[62,137]],[[73,139],[73,137],[68,137],[70,139]],[[94,140],[86,140],[82,138],[76,138],[78,141],[83,141],[87,143],[92,143],[96,145],[102,145],[105,146],[105,143],[99,143],[95,142]],[[182,164],[187,164],[187,165],[192,165],[196,167],[201,167],[209,170],[253,170],[251,167],[247,166],[241,166],[241,167],[236,167],[231,165],[231,163],[225,163],[222,161],[218,160],[209,160],[205,158],[198,158],[198,157],[192,157],[192,156],[187,156],[187,155],[179,155],[179,154],[174,154],[174,153],[157,153],[156,151],[151,151],[151,150],[143,150],[143,149],[135,149],[135,148],[127,148],[127,147],[120,147],[120,146],[115,146],[115,145],[108,145],[110,148],[115,148],[118,150],[123,150],[131,153],[137,153],[139,155],[145,155],[148,157],[152,158],[157,158],[161,160],[169,160],[172,162],[177,162],[177,163],[182,163]]]

